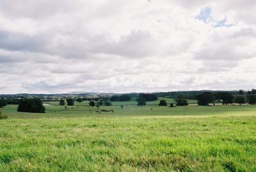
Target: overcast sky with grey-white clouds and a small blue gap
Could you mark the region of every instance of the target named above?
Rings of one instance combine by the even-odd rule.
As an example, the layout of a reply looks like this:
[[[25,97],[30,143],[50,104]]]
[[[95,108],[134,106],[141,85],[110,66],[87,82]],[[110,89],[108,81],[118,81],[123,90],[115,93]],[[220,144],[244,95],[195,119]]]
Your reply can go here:
[[[1,0],[0,94],[256,88],[255,0]]]

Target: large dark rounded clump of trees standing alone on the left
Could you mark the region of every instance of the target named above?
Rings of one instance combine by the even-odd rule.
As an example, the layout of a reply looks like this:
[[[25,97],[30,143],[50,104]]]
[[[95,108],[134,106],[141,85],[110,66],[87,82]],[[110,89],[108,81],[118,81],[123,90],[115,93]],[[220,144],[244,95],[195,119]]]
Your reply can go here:
[[[39,98],[25,98],[18,105],[18,112],[45,113],[45,106]]]

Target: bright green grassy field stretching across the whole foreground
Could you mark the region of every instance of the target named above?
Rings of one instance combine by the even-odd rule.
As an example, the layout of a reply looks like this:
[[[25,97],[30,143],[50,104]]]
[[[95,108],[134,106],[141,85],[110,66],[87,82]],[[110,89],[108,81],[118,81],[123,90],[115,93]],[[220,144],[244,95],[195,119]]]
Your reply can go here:
[[[0,171],[256,171],[256,105],[16,108]]]

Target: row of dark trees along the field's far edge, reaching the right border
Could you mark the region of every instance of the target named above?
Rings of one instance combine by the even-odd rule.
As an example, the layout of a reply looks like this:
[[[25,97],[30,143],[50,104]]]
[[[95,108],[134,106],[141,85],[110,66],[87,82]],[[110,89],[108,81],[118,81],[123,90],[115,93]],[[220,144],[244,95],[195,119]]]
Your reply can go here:
[[[204,92],[203,94],[198,95],[197,101],[198,105],[209,105],[209,103],[215,103],[215,100],[222,100],[222,104],[228,105],[233,103],[249,103],[249,104],[256,104],[256,95],[232,95],[229,92],[219,92],[219,93],[212,93],[212,92]]]

